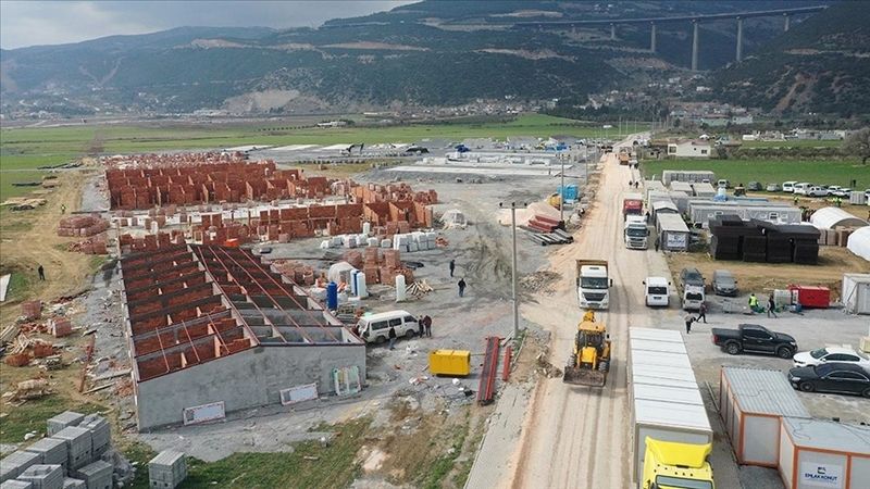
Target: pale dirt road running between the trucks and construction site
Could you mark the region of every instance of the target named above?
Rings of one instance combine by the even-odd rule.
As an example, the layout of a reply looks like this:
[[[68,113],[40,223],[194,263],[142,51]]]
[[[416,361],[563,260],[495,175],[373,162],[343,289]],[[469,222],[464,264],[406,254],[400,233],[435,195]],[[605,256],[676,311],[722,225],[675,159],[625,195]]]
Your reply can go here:
[[[610,154],[597,200],[575,242],[550,256],[562,278],[552,297],[522,308],[523,316],[551,331],[550,362],[561,367],[571,352],[582,311],[574,286],[574,260],[606,259],[613,288],[610,310],[597,313],[613,340],[613,362],[604,389],[569,386],[560,378],[539,381],[527,410],[513,476],[501,486],[514,488],[614,488],[631,486],[630,408],[626,392],[627,337],[631,326],[649,326],[642,281],[648,269],[667,264],[651,251],[626,250],[622,243],[622,193],[632,173]],[[634,176],[636,178],[636,174]]]

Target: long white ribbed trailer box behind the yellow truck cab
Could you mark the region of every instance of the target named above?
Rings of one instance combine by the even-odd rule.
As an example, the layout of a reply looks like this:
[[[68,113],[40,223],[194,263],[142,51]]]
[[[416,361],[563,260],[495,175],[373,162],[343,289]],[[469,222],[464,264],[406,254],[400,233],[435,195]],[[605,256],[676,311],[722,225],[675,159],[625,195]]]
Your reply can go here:
[[[639,486],[646,437],[704,444],[713,434],[681,334],[631,328],[629,346],[632,478]]]

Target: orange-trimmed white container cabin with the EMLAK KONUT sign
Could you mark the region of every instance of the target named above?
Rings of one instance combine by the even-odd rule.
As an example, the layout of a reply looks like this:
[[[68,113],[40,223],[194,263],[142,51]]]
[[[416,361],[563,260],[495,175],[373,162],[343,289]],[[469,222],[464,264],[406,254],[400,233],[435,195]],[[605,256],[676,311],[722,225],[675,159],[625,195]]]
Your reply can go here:
[[[787,489],[865,489],[870,481],[870,427],[783,417],[779,471]]]

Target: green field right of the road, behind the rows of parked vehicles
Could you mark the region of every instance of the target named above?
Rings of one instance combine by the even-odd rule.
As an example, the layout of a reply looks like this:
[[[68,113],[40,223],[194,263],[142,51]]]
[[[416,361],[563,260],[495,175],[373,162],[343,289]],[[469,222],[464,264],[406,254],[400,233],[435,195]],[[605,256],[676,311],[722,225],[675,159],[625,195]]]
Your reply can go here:
[[[820,185],[852,186],[870,188],[870,165],[862,166],[859,161],[775,161],[775,160],[647,160],[641,164],[646,178],[654,175],[661,179],[666,170],[707,170],[717,178],[725,178],[732,184],[760,181],[782,184],[783,181],[811,181]]]

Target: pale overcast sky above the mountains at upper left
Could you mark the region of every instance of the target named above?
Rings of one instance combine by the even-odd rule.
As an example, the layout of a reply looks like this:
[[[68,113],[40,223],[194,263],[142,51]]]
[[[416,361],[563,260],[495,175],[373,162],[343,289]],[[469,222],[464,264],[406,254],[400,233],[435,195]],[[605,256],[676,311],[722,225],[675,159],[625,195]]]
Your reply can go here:
[[[77,42],[181,26],[316,27],[336,17],[411,0],[361,1],[0,1],[0,47]]]

